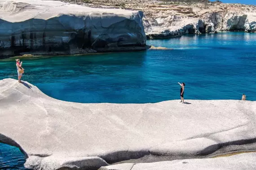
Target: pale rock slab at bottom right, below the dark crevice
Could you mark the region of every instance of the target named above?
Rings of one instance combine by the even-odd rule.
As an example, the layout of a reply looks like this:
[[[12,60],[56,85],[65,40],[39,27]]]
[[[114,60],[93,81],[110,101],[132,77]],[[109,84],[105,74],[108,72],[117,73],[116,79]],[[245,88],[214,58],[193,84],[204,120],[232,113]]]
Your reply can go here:
[[[243,153],[211,159],[185,159],[154,163],[126,163],[105,166],[99,170],[255,170],[256,153]]]

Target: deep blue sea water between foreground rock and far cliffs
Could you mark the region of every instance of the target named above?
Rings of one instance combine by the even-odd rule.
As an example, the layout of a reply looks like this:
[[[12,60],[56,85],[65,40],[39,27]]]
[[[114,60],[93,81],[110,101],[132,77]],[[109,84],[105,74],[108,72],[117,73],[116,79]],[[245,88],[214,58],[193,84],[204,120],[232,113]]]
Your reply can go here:
[[[50,97],[82,103],[179,99],[177,82],[186,84],[185,100],[240,100],[245,93],[256,101],[256,34],[188,35],[147,44],[173,50],[22,59],[22,80]],[[0,68],[0,79],[17,79],[14,59],[0,61]],[[0,145],[0,153],[7,148]],[[13,160],[6,165],[18,164],[10,158],[20,158],[16,153],[0,154],[0,166],[6,160]]]

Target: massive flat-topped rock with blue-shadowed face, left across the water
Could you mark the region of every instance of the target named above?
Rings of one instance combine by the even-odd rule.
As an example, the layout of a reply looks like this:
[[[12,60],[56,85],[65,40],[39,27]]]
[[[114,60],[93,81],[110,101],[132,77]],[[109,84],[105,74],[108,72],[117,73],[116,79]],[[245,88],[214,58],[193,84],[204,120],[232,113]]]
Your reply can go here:
[[[0,55],[143,50],[142,17],[60,1],[0,0]]]

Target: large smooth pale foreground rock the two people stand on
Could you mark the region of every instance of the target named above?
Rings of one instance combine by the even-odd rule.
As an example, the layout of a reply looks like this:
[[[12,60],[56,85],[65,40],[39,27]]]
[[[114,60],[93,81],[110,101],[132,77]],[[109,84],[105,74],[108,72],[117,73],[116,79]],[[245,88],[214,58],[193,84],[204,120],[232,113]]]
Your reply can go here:
[[[256,150],[256,102],[190,102],[63,102],[27,82],[4,79],[0,142],[19,147],[27,157],[25,166],[35,170],[97,170],[125,160],[170,161]],[[152,169],[153,164],[137,167],[147,165]]]

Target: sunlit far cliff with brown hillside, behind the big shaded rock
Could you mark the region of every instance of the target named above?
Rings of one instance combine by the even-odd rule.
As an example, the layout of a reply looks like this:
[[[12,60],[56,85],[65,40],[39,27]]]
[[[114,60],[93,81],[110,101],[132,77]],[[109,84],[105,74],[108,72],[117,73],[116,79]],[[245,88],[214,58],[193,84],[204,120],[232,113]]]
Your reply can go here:
[[[253,5],[211,3],[208,0],[87,0],[85,5],[143,11],[145,31],[151,39],[221,30],[256,32],[256,6]]]

